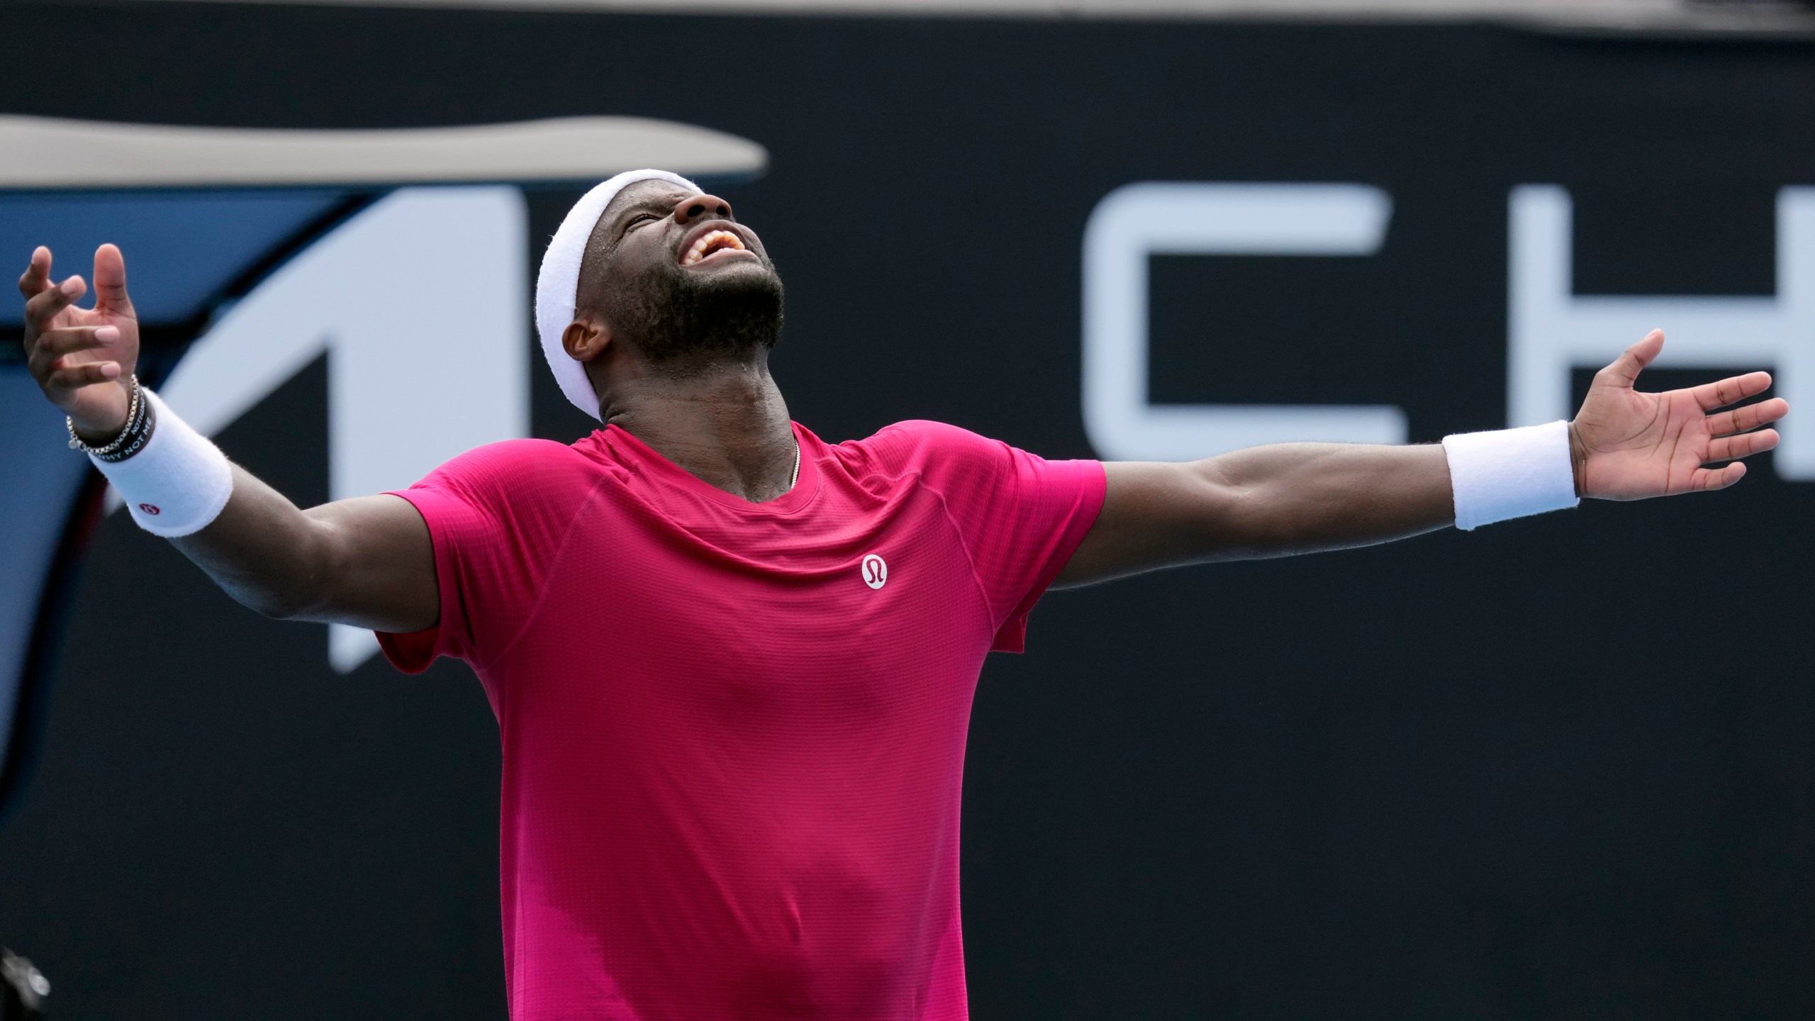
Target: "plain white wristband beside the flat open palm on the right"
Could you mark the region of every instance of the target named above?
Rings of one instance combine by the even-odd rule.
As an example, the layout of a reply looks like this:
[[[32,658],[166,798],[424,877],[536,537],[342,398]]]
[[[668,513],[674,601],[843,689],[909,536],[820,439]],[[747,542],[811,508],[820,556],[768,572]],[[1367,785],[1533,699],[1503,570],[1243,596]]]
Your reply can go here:
[[[1459,432],[1443,438],[1443,452],[1450,460],[1457,529],[1581,503],[1566,421]]]

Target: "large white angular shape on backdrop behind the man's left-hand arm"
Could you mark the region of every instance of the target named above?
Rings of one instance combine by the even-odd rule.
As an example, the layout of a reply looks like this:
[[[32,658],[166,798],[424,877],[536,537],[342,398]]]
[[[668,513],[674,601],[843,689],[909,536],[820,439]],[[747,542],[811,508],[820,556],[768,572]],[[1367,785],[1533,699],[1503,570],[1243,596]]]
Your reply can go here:
[[[272,273],[198,338],[162,396],[214,434],[329,356],[329,498],[403,489],[528,434],[528,227],[515,187],[403,189]],[[378,652],[329,625],[329,663]]]

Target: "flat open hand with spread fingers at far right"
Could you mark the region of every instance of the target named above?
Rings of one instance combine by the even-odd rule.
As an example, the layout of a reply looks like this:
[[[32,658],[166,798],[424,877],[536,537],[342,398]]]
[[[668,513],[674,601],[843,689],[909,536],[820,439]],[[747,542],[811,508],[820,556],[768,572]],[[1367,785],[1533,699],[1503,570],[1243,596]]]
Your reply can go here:
[[[1739,458],[1777,447],[1777,431],[1759,427],[1790,412],[1782,398],[1717,411],[1764,392],[1771,385],[1770,372],[1663,394],[1632,389],[1663,349],[1664,331],[1653,329],[1595,372],[1588,398],[1570,423],[1575,491],[1581,496],[1644,500],[1726,489],[1746,474]],[[1702,467],[1712,461],[1733,463]]]

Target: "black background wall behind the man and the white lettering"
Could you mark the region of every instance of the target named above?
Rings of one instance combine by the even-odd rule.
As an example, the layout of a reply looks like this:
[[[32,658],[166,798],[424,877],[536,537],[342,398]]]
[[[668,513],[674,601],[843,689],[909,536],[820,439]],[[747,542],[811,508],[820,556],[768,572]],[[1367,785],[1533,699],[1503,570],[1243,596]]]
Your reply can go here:
[[[1156,260],[1154,394],[1398,403],[1414,440],[1505,421],[1512,185],[1570,187],[1583,292],[1768,294],[1775,193],[1815,183],[1804,42],[212,4],[7,4],[0,40],[11,113],[755,138],[771,171],[730,198],[831,440],[944,418],[1089,456],[1080,242],[1127,182],[1387,189],[1376,260]],[[532,196],[534,245],[572,196]],[[579,434],[535,372],[537,434]],[[221,443],[321,500],[323,409],[318,363]],[[1051,596],[976,699],[975,1016],[1815,1014],[1815,487],[1753,469]],[[0,832],[0,937],[60,1017],[503,1014],[465,667],[334,676],[318,627],[123,518],[76,612]]]

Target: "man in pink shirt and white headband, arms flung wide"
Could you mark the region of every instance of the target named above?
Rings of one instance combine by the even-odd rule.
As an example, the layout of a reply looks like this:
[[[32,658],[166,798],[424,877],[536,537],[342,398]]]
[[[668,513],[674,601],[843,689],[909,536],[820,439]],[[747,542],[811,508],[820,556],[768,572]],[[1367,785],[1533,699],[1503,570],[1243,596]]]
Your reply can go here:
[[[479,674],[519,1021],[964,1017],[971,692],[1047,587],[1724,489],[1744,465],[1704,465],[1770,451],[1788,411],[1717,411],[1764,372],[1634,391],[1652,332],[1575,421],[1441,445],[1047,461],[933,421],[833,445],[770,378],[757,234],[637,171],[574,207],[537,282],[548,363],[603,429],[301,510],[138,387],[118,249],[93,309],[45,249],[20,289],[33,374],[140,525],[263,614]]]

